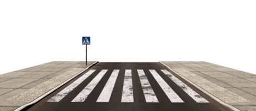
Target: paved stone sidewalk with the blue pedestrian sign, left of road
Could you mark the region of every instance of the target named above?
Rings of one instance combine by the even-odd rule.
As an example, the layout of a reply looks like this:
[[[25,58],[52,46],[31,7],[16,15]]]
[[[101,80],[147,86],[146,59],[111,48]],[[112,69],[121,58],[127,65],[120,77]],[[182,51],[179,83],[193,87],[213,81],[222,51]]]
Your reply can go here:
[[[0,74],[0,111],[31,103],[76,77],[97,60],[51,61]]]

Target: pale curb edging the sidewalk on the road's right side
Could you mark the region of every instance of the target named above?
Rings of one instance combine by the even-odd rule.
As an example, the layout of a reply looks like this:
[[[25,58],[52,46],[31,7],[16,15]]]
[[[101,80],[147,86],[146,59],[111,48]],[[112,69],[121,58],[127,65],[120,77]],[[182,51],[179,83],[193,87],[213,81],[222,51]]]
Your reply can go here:
[[[158,62],[162,63],[160,60],[158,60]],[[232,111],[240,111],[239,109],[233,107],[232,105],[229,105],[227,103],[224,103],[222,100],[214,97],[214,95],[208,93],[206,90],[200,88],[198,85],[194,84],[193,82],[191,82],[190,80],[188,80],[187,78],[183,77],[182,75],[180,75],[179,73],[175,72],[173,69],[171,69],[168,65],[162,63],[163,65],[165,65],[165,67],[169,68],[170,70],[172,70],[175,74],[179,75],[180,77],[182,77],[183,79],[185,79],[187,82],[189,82],[190,84],[194,85],[194,87],[197,87],[199,90],[201,90],[202,92],[204,92],[205,94],[207,94],[210,98],[216,100],[218,103],[220,103],[221,105],[223,105],[225,108],[228,108],[229,110]]]

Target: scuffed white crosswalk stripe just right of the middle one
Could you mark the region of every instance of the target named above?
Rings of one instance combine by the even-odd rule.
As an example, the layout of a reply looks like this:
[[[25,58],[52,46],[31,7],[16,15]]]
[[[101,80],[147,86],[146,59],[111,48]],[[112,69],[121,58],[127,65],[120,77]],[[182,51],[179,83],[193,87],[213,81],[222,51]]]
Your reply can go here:
[[[144,93],[146,102],[147,103],[159,103],[150,83],[148,82],[148,79],[147,79],[144,71],[139,70],[139,69],[137,71],[139,74],[140,83],[142,84],[142,89],[143,89],[143,93]]]

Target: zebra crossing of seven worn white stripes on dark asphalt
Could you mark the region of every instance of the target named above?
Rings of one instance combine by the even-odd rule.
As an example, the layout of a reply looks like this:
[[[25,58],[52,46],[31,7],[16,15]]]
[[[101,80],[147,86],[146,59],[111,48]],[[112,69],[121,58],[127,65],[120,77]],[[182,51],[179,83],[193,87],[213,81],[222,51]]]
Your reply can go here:
[[[197,103],[209,103],[206,99],[204,99],[201,95],[195,92],[193,89],[189,88],[186,84],[180,81],[178,78],[174,77],[170,72],[165,69],[160,69],[167,77],[170,78],[175,84],[177,84],[185,93],[187,93],[192,99]],[[64,88],[58,94],[54,95],[51,99],[47,100],[47,102],[59,102],[61,101],[69,92],[71,92],[74,88],[76,88],[80,83],[86,80],[89,75],[94,73],[96,69],[89,70],[86,74],[82,75],[82,77],[78,78],[73,83],[69,84],[68,87]],[[106,74],[108,69],[102,69],[96,77],[71,101],[71,102],[84,102],[89,94],[92,92],[94,87],[99,83],[104,74]],[[144,93],[145,101],[147,103],[158,103],[157,96],[152,89],[147,76],[145,75],[142,69],[137,69],[139,80],[142,85],[142,90]],[[172,103],[184,103],[183,100],[179,97],[177,93],[165,82],[165,80],[160,77],[160,75],[154,69],[149,69],[149,72],[153,75],[154,79],[163,89],[164,93],[169,98]],[[109,77],[105,87],[103,88],[101,94],[99,95],[96,102],[109,102],[109,99],[112,95],[112,91],[114,88],[114,84],[117,81],[117,77],[119,74],[119,69],[114,69],[111,76]],[[124,74],[124,84],[123,84],[123,92],[122,92],[122,103],[133,103],[133,85],[132,85],[132,70],[126,69]]]

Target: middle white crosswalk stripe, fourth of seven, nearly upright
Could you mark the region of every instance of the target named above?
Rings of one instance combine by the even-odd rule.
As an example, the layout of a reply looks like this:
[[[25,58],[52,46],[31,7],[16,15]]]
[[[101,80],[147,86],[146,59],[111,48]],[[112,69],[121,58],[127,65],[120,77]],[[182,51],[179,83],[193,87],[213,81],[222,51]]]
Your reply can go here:
[[[132,70],[127,69],[124,75],[122,102],[133,103]]]

